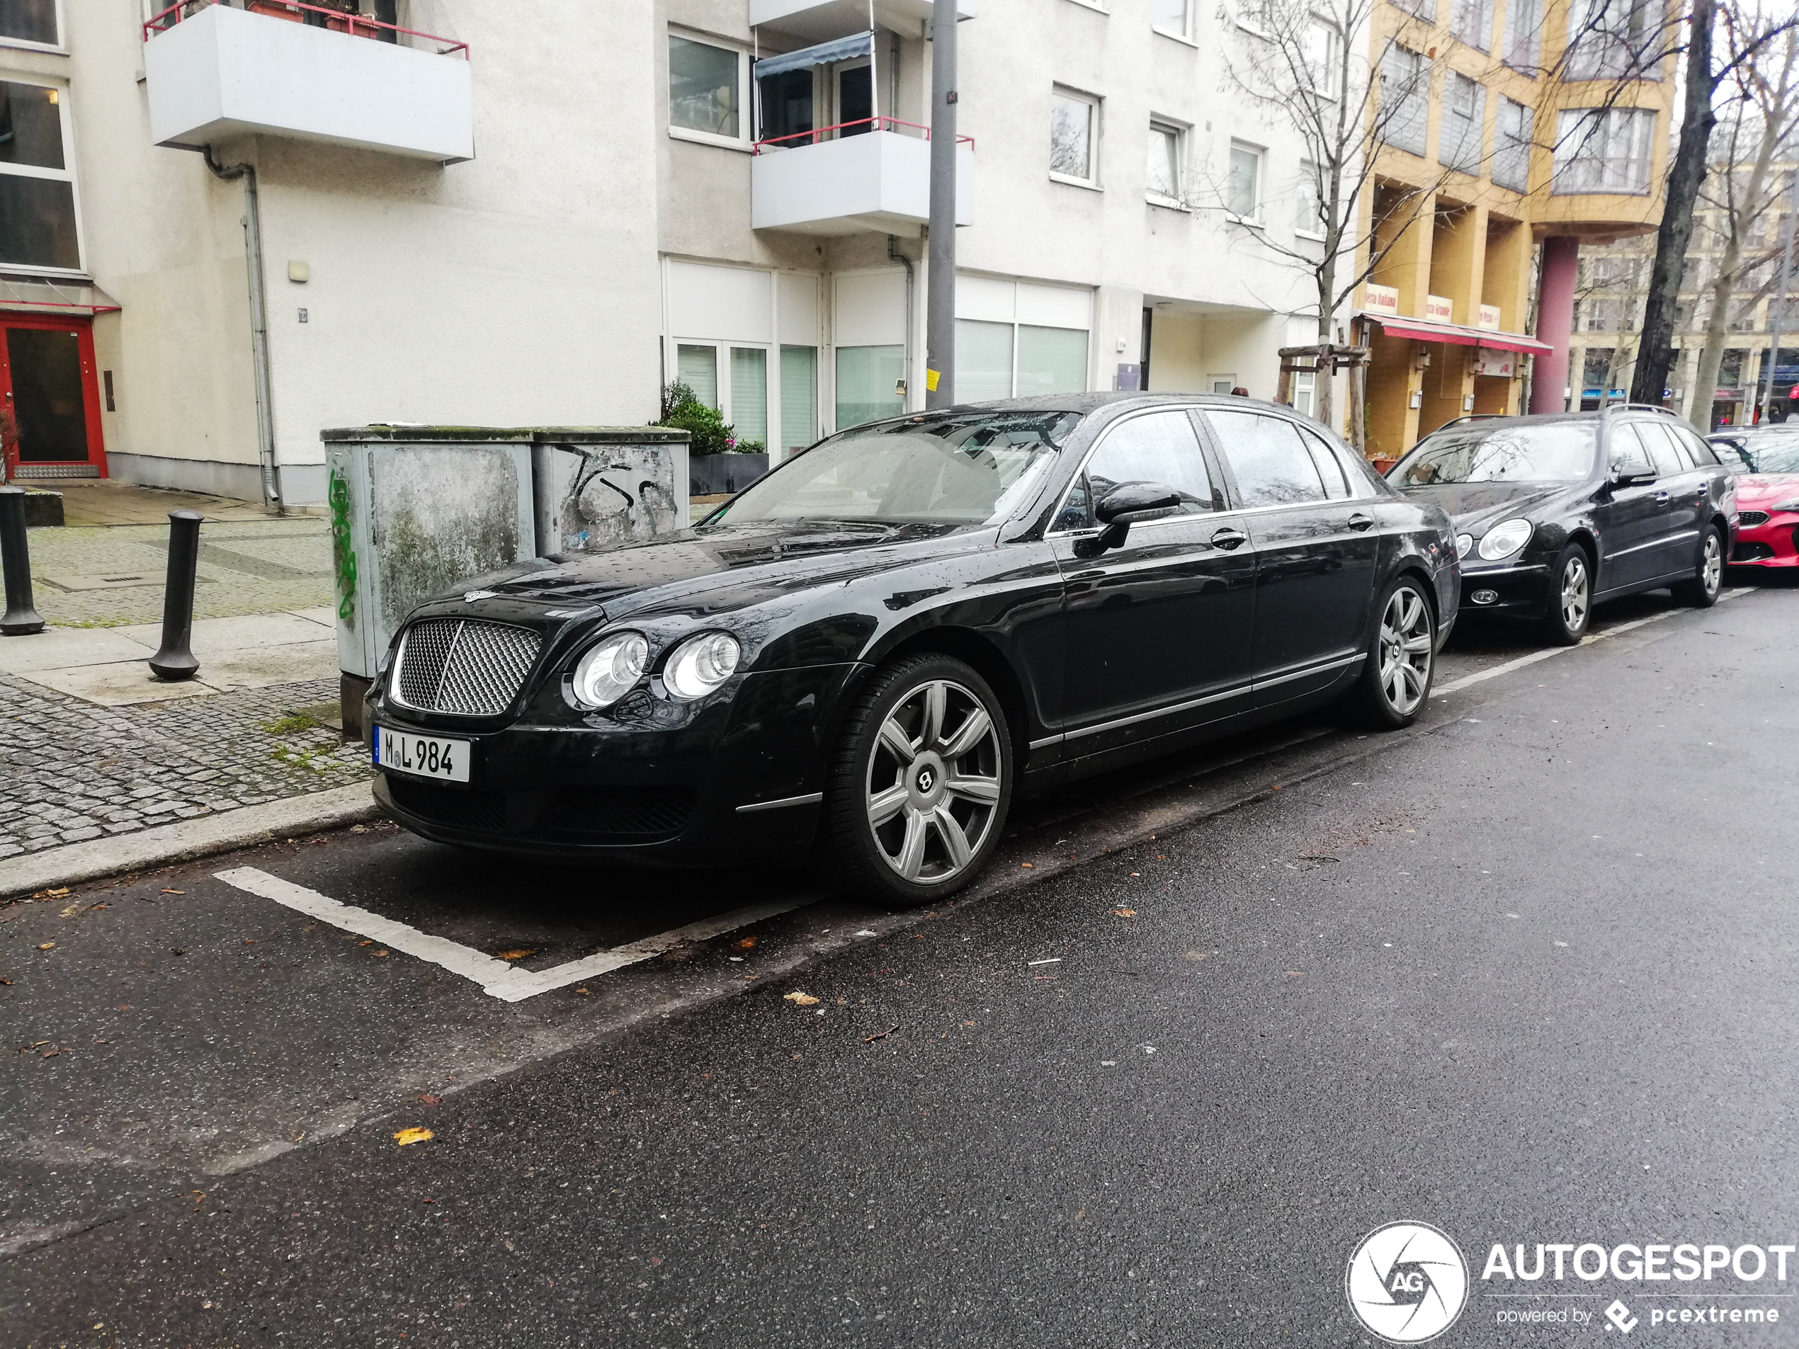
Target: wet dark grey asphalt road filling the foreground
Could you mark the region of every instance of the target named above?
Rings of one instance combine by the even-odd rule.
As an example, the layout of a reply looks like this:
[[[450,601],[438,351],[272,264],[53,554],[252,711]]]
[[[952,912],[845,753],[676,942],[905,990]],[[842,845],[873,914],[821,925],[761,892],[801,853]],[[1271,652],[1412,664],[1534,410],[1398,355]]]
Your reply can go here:
[[[1374,1344],[1346,1264],[1407,1219],[1470,1263],[1443,1345],[1623,1338],[1614,1299],[1799,1342],[1799,1261],[1481,1277],[1799,1241],[1799,594],[1596,631],[1459,635],[1400,736],[1036,802],[926,914],[385,827],[0,910],[0,1340]]]

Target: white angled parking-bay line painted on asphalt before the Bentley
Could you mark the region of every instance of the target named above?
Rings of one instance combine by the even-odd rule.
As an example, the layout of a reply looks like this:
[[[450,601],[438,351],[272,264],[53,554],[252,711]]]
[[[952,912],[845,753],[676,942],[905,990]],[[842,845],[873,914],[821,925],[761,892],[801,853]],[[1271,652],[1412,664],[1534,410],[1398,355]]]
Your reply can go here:
[[[482,993],[502,1002],[524,1002],[525,998],[534,998],[538,993],[549,993],[567,984],[579,984],[583,978],[594,978],[595,975],[606,975],[639,960],[649,960],[675,950],[685,941],[709,941],[734,928],[761,923],[765,917],[804,908],[820,898],[817,894],[797,894],[786,899],[770,899],[748,908],[734,908],[729,914],[703,917],[684,928],[658,932],[655,937],[642,937],[640,941],[613,946],[610,951],[586,955],[550,969],[520,969],[506,960],[497,960],[484,951],[477,951],[473,946],[464,946],[448,937],[434,937],[407,923],[396,923],[390,917],[371,914],[367,908],[345,905],[331,896],[318,894],[318,890],[308,890],[304,885],[270,876],[257,867],[221,871],[216,872],[216,880],[263,899],[273,899],[277,905],[286,905],[344,932],[354,932],[358,937],[378,941],[390,950],[430,960],[453,975],[475,980],[480,984]]]

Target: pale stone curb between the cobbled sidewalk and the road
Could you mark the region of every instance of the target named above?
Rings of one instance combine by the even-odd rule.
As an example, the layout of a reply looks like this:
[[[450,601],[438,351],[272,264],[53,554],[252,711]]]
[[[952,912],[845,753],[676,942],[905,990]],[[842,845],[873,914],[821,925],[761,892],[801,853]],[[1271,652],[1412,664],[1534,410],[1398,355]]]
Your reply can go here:
[[[239,806],[219,815],[158,824],[135,835],[92,838],[43,853],[0,862],[0,899],[31,894],[47,885],[92,881],[122,871],[142,871],[167,862],[228,853],[234,847],[266,844],[273,838],[336,829],[344,824],[380,818],[381,809],[367,782],[353,782],[306,797]]]

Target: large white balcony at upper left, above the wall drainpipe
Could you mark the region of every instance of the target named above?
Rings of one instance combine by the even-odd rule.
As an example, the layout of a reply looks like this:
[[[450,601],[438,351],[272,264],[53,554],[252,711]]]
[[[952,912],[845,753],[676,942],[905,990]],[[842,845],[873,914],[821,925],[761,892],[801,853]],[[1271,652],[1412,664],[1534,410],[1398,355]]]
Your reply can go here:
[[[214,4],[146,25],[149,137],[205,146],[282,135],[455,164],[475,158],[468,50],[378,41]],[[293,11],[302,13],[302,11]],[[342,27],[342,16],[335,25]]]

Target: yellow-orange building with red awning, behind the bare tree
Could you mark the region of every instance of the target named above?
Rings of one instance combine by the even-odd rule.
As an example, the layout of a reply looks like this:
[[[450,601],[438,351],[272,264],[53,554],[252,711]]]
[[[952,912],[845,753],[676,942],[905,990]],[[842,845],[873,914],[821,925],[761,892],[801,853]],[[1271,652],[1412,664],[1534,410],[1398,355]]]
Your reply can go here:
[[[1560,412],[1583,243],[1660,218],[1675,63],[1653,0],[1383,0],[1367,442]],[[1526,392],[1529,383],[1529,392]]]

